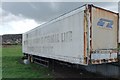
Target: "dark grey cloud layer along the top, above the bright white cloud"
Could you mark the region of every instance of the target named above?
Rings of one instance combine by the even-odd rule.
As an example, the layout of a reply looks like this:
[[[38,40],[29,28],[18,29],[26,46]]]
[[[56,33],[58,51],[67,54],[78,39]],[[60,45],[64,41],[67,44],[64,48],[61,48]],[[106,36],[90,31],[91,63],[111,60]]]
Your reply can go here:
[[[14,15],[22,14],[37,22],[46,22],[86,3],[110,10],[118,8],[117,2],[52,2],[52,0],[51,2],[3,2],[2,8]]]

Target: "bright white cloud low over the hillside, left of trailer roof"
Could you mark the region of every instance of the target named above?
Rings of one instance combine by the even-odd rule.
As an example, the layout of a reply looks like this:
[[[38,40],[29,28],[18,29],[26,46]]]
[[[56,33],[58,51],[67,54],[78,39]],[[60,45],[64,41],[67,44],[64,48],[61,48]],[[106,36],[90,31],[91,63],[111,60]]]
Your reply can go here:
[[[4,13],[6,12],[4,11]],[[38,25],[39,23],[37,23],[34,19],[25,18],[21,14],[16,16],[12,13],[8,13],[2,17],[0,35],[24,33],[37,27]]]

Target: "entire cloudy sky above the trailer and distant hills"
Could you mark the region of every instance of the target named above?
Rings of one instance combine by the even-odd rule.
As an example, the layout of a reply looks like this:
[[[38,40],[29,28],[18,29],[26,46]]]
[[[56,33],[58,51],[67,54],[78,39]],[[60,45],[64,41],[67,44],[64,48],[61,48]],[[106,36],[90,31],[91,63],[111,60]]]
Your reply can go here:
[[[118,12],[118,2],[2,2],[0,35],[24,33],[86,3]]]

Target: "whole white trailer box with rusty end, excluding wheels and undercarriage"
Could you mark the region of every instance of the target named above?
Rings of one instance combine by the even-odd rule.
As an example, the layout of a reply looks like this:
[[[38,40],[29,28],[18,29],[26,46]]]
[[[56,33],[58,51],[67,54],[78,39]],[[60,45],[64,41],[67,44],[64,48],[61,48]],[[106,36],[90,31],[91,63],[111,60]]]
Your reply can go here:
[[[23,53],[72,64],[117,62],[118,14],[84,5],[23,34]]]

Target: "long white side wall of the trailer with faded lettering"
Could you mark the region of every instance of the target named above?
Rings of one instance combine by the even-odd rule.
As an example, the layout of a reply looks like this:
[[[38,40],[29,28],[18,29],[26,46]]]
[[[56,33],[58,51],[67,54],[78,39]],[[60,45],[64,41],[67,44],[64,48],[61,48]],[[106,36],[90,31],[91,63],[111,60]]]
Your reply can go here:
[[[24,33],[23,52],[70,63],[84,64],[84,9],[85,7],[79,8]],[[28,35],[28,39],[26,35]],[[48,36],[50,38],[45,39]],[[42,38],[44,38],[43,41]],[[62,38],[63,40],[65,38],[65,41],[62,41]]]

